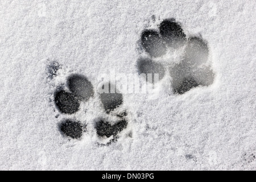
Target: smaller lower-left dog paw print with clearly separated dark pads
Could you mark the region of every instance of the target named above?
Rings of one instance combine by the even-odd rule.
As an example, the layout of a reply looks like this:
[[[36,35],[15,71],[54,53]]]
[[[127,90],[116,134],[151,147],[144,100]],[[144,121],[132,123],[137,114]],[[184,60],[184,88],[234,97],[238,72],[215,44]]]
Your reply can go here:
[[[107,92],[99,94],[100,105],[106,116],[97,117],[96,115],[96,119],[93,120],[94,131],[96,131],[99,140],[111,138],[106,144],[117,140],[119,133],[128,124],[127,112],[118,110],[123,104],[123,96],[119,92],[111,93],[110,87],[113,86],[109,83],[102,85],[102,89]],[[82,103],[90,102],[95,95],[93,85],[88,78],[82,75],[71,75],[67,78],[66,86],[56,89],[54,102],[60,113],[70,117],[80,111]],[[115,110],[118,110],[117,113],[114,113]],[[109,117],[114,117],[115,121],[108,121]],[[76,119],[64,119],[59,124],[59,130],[65,137],[80,139],[83,133],[87,132],[86,118],[84,120],[84,122],[81,122]]]

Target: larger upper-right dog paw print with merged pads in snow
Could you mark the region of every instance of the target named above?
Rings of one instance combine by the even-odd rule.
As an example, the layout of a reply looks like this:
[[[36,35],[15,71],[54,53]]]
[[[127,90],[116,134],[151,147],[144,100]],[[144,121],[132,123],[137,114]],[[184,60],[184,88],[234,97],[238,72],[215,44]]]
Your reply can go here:
[[[146,74],[147,81],[148,73],[153,82],[155,74],[160,81],[169,73],[175,94],[213,83],[207,42],[196,36],[187,38],[175,19],[164,19],[157,30],[143,30],[141,48],[137,69],[139,74]]]

